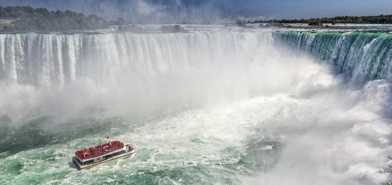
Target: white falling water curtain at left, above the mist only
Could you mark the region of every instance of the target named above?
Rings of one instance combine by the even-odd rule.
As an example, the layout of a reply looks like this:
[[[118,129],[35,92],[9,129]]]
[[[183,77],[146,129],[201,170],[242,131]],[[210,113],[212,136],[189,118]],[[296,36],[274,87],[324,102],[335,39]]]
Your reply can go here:
[[[255,41],[245,44],[240,41],[244,39]],[[227,51],[251,52],[254,49],[250,48],[268,39],[269,34],[238,32],[1,34],[0,79],[51,87],[78,77],[110,79],[124,71],[152,77],[168,74],[178,66],[227,59]]]

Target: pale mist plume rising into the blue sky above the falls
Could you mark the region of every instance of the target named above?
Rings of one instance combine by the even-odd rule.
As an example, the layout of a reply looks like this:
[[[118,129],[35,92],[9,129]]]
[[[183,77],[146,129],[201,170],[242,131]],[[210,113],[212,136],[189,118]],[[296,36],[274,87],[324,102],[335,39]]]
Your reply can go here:
[[[121,4],[104,1],[100,4],[100,14],[111,20],[121,17],[131,22],[142,23],[216,23],[227,21],[220,9],[214,5],[214,1],[200,1],[193,4],[181,0],[166,2],[125,0]]]

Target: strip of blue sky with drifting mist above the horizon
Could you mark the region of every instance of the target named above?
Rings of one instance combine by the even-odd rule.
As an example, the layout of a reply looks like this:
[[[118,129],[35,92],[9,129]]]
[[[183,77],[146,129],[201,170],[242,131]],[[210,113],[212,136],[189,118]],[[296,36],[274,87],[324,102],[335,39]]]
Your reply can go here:
[[[141,22],[392,14],[392,0],[0,0],[0,5],[69,9],[85,14],[96,13],[108,20],[124,17]]]

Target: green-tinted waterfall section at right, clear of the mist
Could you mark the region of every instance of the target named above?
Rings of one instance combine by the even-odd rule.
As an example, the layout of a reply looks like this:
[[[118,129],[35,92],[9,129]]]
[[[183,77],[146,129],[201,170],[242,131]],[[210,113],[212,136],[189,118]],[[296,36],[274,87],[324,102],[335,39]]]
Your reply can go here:
[[[351,81],[392,80],[392,34],[381,32],[276,32],[290,47],[300,48],[352,73]]]

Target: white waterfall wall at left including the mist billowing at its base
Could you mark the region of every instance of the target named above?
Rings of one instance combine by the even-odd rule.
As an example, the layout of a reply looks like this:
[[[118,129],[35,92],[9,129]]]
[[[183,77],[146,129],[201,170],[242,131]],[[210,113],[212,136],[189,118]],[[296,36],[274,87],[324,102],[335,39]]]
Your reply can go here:
[[[140,114],[173,101],[178,109],[248,97],[262,90],[261,59],[277,56],[272,40],[270,32],[227,31],[1,34],[0,114],[89,106]]]

